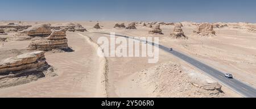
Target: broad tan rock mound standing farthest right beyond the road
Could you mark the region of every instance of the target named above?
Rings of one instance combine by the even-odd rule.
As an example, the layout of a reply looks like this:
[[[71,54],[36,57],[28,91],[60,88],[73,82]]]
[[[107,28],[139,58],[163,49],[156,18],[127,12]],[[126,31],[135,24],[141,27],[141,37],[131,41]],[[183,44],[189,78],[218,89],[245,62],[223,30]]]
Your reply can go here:
[[[193,31],[200,36],[214,36],[215,31],[213,30],[213,25],[209,23],[200,24],[196,31]]]

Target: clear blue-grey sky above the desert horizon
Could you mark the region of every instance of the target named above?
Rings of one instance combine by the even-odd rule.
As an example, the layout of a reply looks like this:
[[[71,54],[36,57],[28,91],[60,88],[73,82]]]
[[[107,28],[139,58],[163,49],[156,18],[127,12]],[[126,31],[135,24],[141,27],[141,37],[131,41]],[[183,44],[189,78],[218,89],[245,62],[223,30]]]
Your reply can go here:
[[[256,23],[255,0],[1,0],[0,20]]]

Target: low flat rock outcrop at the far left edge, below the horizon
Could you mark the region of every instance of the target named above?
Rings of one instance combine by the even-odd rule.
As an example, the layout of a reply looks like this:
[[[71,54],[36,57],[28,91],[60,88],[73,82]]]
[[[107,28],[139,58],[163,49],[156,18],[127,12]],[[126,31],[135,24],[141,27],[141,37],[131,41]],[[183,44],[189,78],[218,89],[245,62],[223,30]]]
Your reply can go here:
[[[17,31],[26,30],[29,27],[31,27],[31,26],[20,26],[18,24],[9,23],[7,25],[0,26],[0,29],[2,28],[6,32],[9,32],[9,31],[17,32]]]

